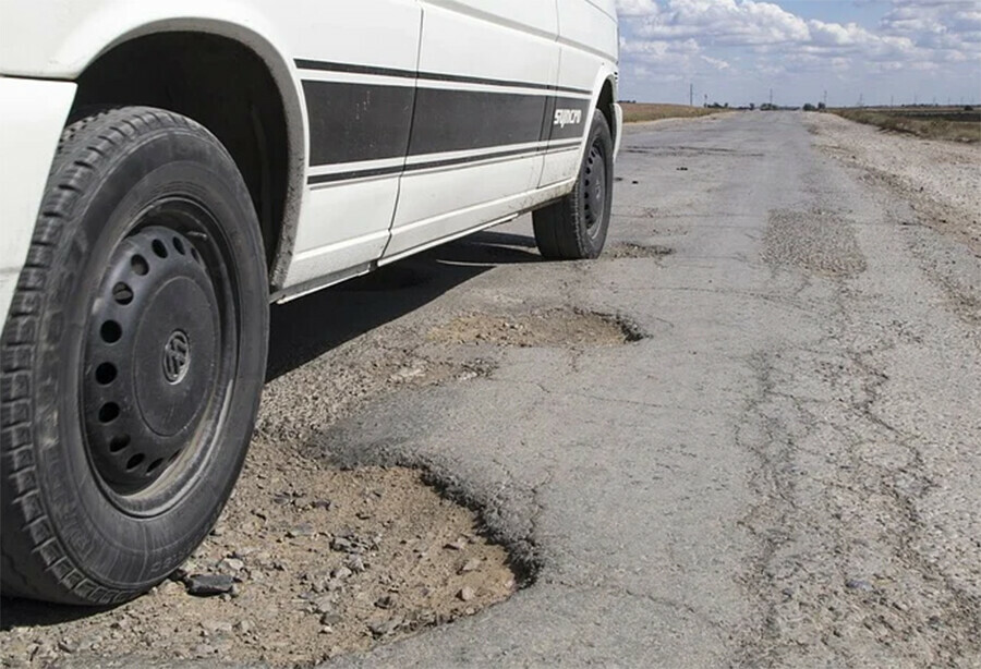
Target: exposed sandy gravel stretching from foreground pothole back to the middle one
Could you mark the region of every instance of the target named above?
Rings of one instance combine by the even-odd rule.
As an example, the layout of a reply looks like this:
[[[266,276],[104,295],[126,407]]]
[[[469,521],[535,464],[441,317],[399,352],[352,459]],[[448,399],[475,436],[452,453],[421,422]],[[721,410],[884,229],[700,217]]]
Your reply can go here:
[[[400,272],[350,292],[384,288],[379,280],[404,284]],[[110,610],[3,600],[0,664],[204,658],[308,667],[507,599],[529,570],[512,564],[484,536],[479,514],[440,495],[424,472],[336,469],[306,445],[368,399],[465,382],[493,368],[480,357],[440,358],[438,353],[440,343],[574,348],[638,337],[629,324],[590,312],[464,314],[428,333],[384,327],[298,364],[267,385],[239,485],[182,570]],[[191,594],[201,576],[227,592]]]

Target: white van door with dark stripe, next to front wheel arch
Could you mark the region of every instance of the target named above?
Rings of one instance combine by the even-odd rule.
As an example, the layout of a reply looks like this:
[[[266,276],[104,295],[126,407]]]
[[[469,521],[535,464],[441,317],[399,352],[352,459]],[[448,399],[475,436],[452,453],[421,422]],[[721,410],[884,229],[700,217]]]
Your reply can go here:
[[[287,284],[367,271],[388,244],[409,148],[417,0],[298,0],[287,24],[306,101],[308,161]],[[286,22],[284,22],[286,23]]]

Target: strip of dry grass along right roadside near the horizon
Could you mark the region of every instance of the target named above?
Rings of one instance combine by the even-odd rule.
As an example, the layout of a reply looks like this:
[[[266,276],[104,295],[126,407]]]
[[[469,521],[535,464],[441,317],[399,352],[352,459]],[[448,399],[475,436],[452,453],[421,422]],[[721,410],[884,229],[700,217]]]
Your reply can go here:
[[[834,109],[834,113],[859,123],[908,133],[929,139],[981,142],[981,111],[965,111],[962,107],[932,107],[917,109],[867,108]]]

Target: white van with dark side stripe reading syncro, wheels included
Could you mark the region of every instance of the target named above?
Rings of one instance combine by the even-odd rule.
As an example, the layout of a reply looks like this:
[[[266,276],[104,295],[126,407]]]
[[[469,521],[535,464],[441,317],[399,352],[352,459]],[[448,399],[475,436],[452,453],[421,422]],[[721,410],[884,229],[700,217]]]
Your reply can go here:
[[[184,561],[270,302],[528,211],[596,257],[617,40],[614,0],[0,0],[3,594]]]

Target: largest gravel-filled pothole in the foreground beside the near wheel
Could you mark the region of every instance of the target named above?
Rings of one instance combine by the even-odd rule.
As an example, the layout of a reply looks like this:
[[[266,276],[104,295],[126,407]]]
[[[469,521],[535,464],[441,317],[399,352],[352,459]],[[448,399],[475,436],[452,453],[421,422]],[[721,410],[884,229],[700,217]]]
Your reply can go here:
[[[117,609],[7,603],[3,666],[124,658],[308,667],[507,599],[520,579],[479,516],[408,469],[339,471],[257,442],[218,527],[185,564],[230,576],[194,597],[168,581]],[[192,581],[192,579],[186,579]]]

